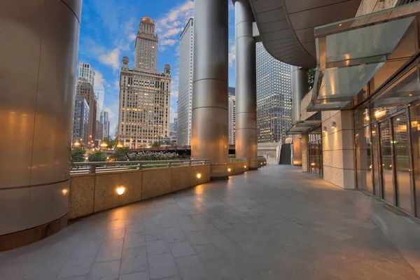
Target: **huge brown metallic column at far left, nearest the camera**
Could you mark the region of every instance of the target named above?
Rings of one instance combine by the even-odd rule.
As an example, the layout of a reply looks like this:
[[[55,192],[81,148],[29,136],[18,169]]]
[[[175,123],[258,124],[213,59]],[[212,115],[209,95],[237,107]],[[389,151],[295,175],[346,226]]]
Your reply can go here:
[[[81,7],[0,1],[0,251],[66,225]]]

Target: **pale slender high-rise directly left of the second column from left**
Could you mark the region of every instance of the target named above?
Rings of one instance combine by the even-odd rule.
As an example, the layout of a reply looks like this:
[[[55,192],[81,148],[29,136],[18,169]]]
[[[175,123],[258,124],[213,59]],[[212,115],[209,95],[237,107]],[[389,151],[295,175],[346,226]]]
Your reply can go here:
[[[178,145],[191,145],[191,118],[193,96],[194,20],[190,18],[179,37],[178,85]]]

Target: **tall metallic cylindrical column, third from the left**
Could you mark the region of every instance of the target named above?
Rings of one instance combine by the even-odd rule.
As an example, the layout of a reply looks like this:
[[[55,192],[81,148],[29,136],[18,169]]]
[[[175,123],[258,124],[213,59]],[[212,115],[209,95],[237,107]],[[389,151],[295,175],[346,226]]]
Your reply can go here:
[[[257,87],[253,15],[248,0],[235,1],[236,142],[237,158],[248,158],[249,169],[258,169]]]

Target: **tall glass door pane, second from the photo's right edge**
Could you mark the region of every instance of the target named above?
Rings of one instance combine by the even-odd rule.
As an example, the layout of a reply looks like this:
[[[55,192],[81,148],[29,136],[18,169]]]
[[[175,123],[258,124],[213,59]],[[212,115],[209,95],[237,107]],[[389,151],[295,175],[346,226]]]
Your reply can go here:
[[[398,207],[411,213],[407,114],[396,116],[392,121]]]

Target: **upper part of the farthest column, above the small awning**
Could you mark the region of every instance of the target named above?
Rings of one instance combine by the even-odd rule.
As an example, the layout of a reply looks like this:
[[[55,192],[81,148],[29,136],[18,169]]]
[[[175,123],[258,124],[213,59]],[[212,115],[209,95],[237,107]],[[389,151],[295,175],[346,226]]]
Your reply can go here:
[[[298,66],[292,66],[292,121],[300,120],[300,102],[308,93],[308,78],[306,70]]]

